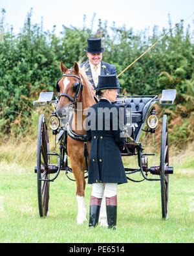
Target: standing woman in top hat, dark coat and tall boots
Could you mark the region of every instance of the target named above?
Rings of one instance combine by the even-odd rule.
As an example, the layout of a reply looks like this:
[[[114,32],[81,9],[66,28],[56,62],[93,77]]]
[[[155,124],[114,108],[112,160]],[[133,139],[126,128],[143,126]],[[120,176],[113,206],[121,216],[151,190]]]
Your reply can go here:
[[[108,227],[115,229],[117,185],[127,183],[120,151],[121,137],[119,108],[111,104],[118,96],[116,75],[99,76],[96,91],[100,101],[89,109],[87,137],[91,141],[88,183],[92,184],[89,227],[98,224],[100,206],[105,194]]]

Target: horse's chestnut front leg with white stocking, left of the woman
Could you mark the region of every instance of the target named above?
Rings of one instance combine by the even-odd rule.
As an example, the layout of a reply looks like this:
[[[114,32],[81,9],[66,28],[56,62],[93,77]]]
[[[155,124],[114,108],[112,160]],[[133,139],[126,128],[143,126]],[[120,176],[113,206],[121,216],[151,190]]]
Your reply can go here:
[[[78,202],[78,215],[77,215],[77,224],[83,224],[85,220],[87,220],[87,211],[85,209],[85,200],[84,200],[84,191],[85,191],[85,178],[84,172],[76,167],[76,171],[74,171],[73,167],[72,170],[74,172],[74,177],[76,180],[77,191],[76,191],[76,199]]]

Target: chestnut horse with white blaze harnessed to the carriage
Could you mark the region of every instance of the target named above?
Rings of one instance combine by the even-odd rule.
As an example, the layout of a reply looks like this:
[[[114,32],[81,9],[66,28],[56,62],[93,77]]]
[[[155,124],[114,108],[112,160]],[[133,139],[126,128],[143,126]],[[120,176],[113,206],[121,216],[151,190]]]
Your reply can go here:
[[[74,134],[84,135],[86,131],[83,127],[87,110],[96,103],[94,99],[94,91],[91,83],[85,74],[84,68],[80,68],[75,62],[74,67],[67,69],[61,62],[61,71],[63,76],[57,82],[59,92],[59,102],[57,106],[57,114],[59,117],[68,119],[70,110],[73,111],[70,127]],[[81,104],[81,110],[78,105]],[[87,143],[87,151],[90,152],[91,143]],[[85,209],[85,178],[86,161],[84,157],[84,142],[67,137],[67,152],[70,157],[72,172],[76,180],[76,198],[78,201],[77,223],[82,224],[87,220],[87,211]],[[88,157],[89,159],[89,157]],[[87,162],[88,163],[88,162]]]

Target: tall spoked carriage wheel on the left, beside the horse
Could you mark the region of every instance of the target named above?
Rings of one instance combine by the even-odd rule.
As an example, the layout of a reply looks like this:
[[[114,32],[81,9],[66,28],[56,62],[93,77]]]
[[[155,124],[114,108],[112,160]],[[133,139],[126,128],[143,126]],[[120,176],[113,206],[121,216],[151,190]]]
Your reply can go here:
[[[38,124],[38,146],[37,146],[37,182],[38,182],[38,207],[39,216],[47,216],[49,201],[49,181],[41,181],[40,179],[49,179],[47,172],[49,164],[48,130],[45,122],[45,116],[39,117]],[[44,171],[41,171],[41,169]]]

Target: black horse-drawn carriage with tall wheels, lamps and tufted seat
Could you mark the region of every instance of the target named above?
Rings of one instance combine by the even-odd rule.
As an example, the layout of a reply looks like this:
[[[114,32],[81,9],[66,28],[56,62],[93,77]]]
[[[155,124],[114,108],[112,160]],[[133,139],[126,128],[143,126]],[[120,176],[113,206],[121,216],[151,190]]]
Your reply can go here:
[[[56,137],[56,144],[59,145],[59,152],[52,153],[49,151],[48,143],[48,128],[45,115],[39,117],[38,126],[38,152],[37,152],[37,166],[35,172],[38,178],[38,205],[39,215],[47,216],[48,202],[49,202],[49,187],[50,181],[56,180],[61,170],[65,171],[67,177],[72,169],[68,165],[67,154],[67,136],[74,136],[69,127],[68,122],[64,119],[59,119],[56,113],[56,105],[58,98],[52,100],[53,93],[40,93],[39,99],[33,102],[34,106],[45,106],[48,102],[54,106],[49,127],[52,134]],[[169,174],[173,174],[173,167],[169,166],[169,145],[167,134],[167,116],[162,117],[162,134],[161,134],[161,148],[160,148],[160,165],[147,166],[147,156],[154,154],[144,153],[144,147],[138,142],[141,132],[148,132],[152,136],[155,134],[155,129],[158,126],[158,118],[153,105],[159,101],[160,104],[173,104],[176,97],[176,90],[163,90],[161,99],[157,95],[136,95],[136,96],[119,96],[114,104],[118,104],[124,108],[125,113],[125,149],[122,151],[122,156],[137,156],[138,169],[125,168],[127,179],[130,181],[140,182],[160,181],[161,188],[161,202],[162,202],[162,218],[167,219],[168,216],[168,202],[169,202]],[[144,130],[144,124],[147,124],[147,129]],[[86,136],[83,135],[79,139],[85,142]],[[58,157],[58,164],[52,165],[50,163],[50,156]],[[87,154],[85,154],[87,158]],[[86,170],[87,172],[87,170]],[[133,180],[131,174],[140,172],[142,180]],[[158,178],[148,178],[147,174],[151,173],[158,175]],[[50,176],[53,176],[52,178]],[[87,174],[85,174],[87,175]],[[87,176],[85,176],[87,178]]]

